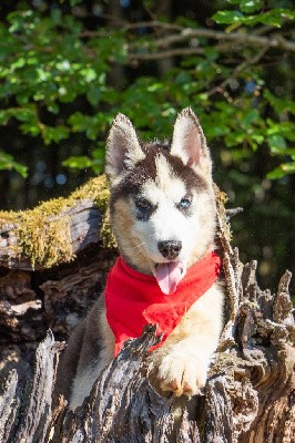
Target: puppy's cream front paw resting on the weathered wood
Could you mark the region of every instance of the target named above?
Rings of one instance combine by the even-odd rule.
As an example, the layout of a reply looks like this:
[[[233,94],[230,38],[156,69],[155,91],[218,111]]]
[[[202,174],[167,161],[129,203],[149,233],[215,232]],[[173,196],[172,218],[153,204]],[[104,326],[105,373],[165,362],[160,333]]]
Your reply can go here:
[[[204,388],[207,369],[207,362],[196,356],[172,352],[157,365],[156,378],[162,391],[172,391],[176,396],[192,396]]]

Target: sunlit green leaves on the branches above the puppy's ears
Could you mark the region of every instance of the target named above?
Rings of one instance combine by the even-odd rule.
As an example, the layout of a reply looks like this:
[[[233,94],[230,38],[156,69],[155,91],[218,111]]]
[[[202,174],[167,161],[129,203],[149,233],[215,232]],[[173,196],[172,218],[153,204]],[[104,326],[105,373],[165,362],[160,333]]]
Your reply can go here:
[[[71,1],[73,7],[80,3]],[[241,25],[281,27],[294,19],[289,9],[262,11],[261,0],[228,0],[234,10],[221,10],[213,16],[217,23],[227,24],[227,32]],[[154,34],[134,40],[134,33],[116,29],[103,29],[88,34],[82,22],[73,16],[52,9],[50,16],[24,8],[8,16],[9,25],[0,27],[0,125],[11,119],[19,122],[23,134],[41,137],[49,147],[69,140],[72,134],[84,134],[90,155],[70,155],[63,166],[102,171],[102,143],[109,124],[116,111],[126,113],[145,137],[170,135],[176,111],[192,105],[200,115],[210,141],[223,141],[225,147],[256,151],[266,145],[269,155],[284,163],[271,172],[277,178],[293,172],[292,147],[294,142],[294,102],[287,96],[276,96],[265,85],[265,72],[260,64],[245,63],[241,72],[233,74],[224,55],[202,39],[203,53],[184,58],[162,79],[139,76],[125,90],[108,84],[108,73],[113,61],[129,63],[129,48],[142,53],[156,50]],[[186,19],[177,20],[185,27],[196,27]],[[154,47],[154,49],[153,49]],[[242,56],[251,60],[255,48],[245,48]],[[231,100],[226,94],[214,93],[216,83],[232,76],[236,83]],[[228,82],[231,85],[231,81]],[[63,112],[67,104],[74,104],[83,96],[90,112]],[[111,106],[111,112],[102,109]],[[265,109],[267,111],[266,117]],[[47,112],[48,121],[42,119]],[[99,150],[99,151],[98,151]],[[96,153],[100,157],[96,158]],[[243,154],[244,155],[244,154]],[[286,157],[288,159],[286,159]],[[10,161],[13,161],[11,157]],[[9,163],[2,162],[6,168]],[[24,169],[16,171],[23,174]],[[279,173],[278,173],[279,171]]]

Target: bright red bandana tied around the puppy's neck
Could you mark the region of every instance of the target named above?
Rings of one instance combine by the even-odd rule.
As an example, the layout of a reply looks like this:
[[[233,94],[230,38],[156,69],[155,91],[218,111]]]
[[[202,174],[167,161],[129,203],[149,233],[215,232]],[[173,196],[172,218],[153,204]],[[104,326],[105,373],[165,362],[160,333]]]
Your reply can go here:
[[[153,276],[138,272],[119,257],[105,287],[106,318],[115,336],[114,354],[125,340],[140,337],[148,323],[157,323],[157,333],[164,333],[157,347],[163,344],[183,315],[216,281],[220,268],[220,257],[207,254],[187,269],[175,292],[166,296]]]

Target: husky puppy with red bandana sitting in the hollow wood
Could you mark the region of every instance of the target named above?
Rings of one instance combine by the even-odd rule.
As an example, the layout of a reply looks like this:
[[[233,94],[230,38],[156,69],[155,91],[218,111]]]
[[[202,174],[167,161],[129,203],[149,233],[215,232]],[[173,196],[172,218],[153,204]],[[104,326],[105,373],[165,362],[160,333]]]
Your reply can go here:
[[[70,399],[71,409],[80,405],[128,338],[128,323],[135,324],[149,309],[152,313],[146,319],[155,318],[157,322],[152,315],[163,302],[160,320],[164,317],[164,326],[160,332],[165,333],[166,321],[169,333],[149,356],[154,368],[153,381],[160,390],[177,396],[197,394],[206,383],[218,343],[224,296],[217,281],[220,261],[213,253],[216,207],[212,162],[193,111],[189,107],[179,114],[171,143],[141,143],[130,120],[119,114],[106,142],[105,174],[111,190],[112,229],[123,266],[120,265],[120,272],[128,272],[128,277],[124,274],[120,280],[118,274],[119,295],[112,299],[115,276],[110,272],[106,311],[101,297],[74,330],[60,364],[57,391]],[[208,268],[213,269],[213,277],[212,271],[206,274]],[[201,291],[197,278],[194,282],[195,274],[201,278]],[[141,281],[138,287],[136,279]],[[129,295],[133,280],[132,299]],[[145,297],[142,311],[136,310],[141,292]],[[180,297],[176,302],[174,295]],[[177,306],[182,306],[181,313],[171,323],[170,312],[173,317]],[[139,322],[138,328],[152,322],[148,320]],[[120,322],[126,323],[121,331],[120,327],[116,329]],[[130,337],[135,334],[131,331]]]

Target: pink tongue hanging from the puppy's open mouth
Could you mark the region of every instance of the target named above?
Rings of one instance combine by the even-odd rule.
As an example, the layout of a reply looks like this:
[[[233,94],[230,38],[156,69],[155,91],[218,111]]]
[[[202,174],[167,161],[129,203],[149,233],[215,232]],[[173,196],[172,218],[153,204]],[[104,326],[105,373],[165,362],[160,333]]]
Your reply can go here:
[[[155,269],[157,285],[166,296],[175,292],[176,287],[183,277],[183,268],[176,261],[159,264]]]

